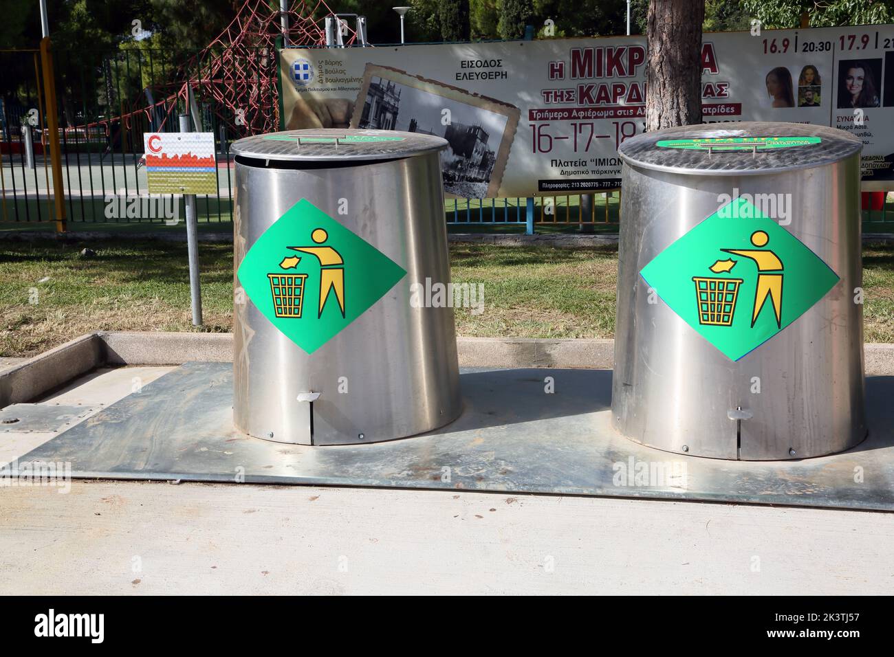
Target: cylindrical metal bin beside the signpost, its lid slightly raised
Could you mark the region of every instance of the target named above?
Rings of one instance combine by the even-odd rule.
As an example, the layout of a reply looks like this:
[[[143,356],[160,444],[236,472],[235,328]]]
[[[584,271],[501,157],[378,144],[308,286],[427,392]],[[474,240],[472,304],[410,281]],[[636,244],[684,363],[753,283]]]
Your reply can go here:
[[[377,442],[460,415],[439,152],[398,131],[301,130],[235,155],[233,421],[258,438]]]

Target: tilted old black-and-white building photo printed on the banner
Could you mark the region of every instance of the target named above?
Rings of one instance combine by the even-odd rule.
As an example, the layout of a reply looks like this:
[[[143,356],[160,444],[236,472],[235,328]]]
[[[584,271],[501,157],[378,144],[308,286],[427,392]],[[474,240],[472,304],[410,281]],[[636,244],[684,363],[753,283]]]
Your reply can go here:
[[[422,132],[443,137],[444,192],[498,196],[519,108],[388,66],[367,63],[351,128]]]

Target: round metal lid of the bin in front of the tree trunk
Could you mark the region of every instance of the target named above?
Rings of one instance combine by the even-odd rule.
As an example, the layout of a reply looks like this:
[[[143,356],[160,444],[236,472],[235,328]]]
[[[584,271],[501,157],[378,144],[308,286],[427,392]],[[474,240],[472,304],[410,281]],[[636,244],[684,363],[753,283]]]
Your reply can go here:
[[[671,173],[752,175],[832,164],[859,153],[863,142],[822,125],[729,122],[685,125],[625,139],[626,164]]]

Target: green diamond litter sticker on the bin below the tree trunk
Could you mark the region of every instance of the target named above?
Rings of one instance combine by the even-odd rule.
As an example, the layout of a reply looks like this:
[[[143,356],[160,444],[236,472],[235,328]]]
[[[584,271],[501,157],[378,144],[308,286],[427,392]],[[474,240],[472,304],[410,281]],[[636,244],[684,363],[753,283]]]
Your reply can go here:
[[[732,360],[780,333],[839,281],[822,258],[741,197],[665,248],[640,275]]]

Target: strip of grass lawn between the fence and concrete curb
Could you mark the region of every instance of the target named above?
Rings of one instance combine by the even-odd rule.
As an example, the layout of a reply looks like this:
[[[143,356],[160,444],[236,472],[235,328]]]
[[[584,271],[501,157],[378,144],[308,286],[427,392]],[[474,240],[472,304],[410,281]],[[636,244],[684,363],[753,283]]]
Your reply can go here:
[[[97,251],[81,257],[81,248]],[[232,245],[199,245],[205,326],[232,329]],[[452,244],[455,282],[485,283],[460,335],[611,337],[617,253]],[[894,342],[894,247],[864,251],[865,340]],[[156,240],[0,242],[0,357],[96,330],[191,331],[186,245]]]

